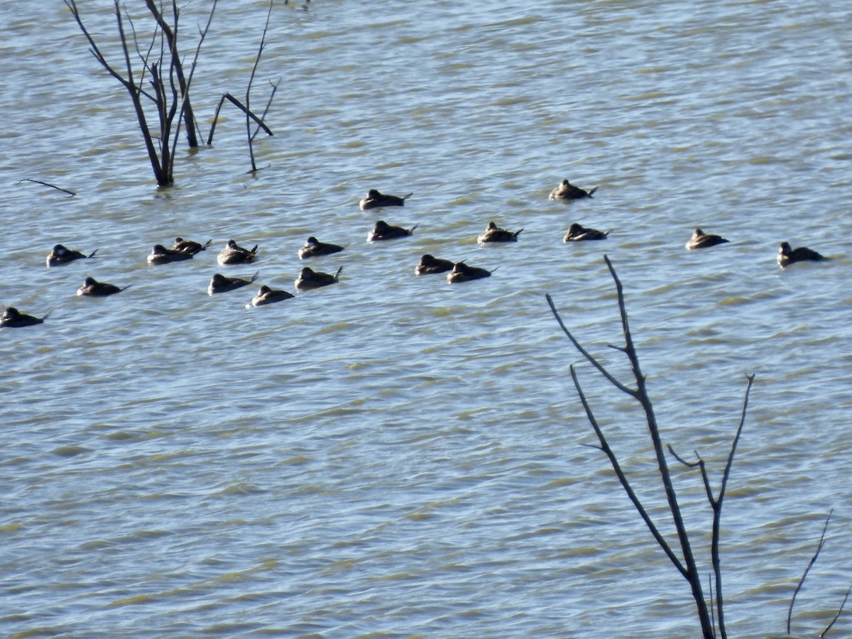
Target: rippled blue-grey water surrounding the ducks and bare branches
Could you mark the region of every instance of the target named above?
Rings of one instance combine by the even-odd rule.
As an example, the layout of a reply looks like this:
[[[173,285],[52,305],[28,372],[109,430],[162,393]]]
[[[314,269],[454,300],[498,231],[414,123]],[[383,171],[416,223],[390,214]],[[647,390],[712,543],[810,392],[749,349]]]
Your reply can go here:
[[[111,42],[112,4],[79,3]],[[204,130],[222,93],[245,94],[265,11],[220,3],[194,80]],[[544,300],[627,375],[604,252],[665,440],[714,486],[757,374],[722,517],[731,636],[785,629],[833,508],[793,626],[822,630],[852,580],[849,13],[279,3],[252,95],[280,78],[262,170],[226,107],[157,189],[61,3],[0,4],[0,302],[50,312],[0,334],[0,634],[696,636],[686,584],[584,446],[579,355]],[[551,202],[563,177],[599,190]],[[361,212],[368,188],[414,194]],[[368,244],[379,216],[419,226]],[[490,220],[520,241],[478,247]],[[563,245],[572,222],[612,233]],[[731,244],[684,250],[696,226]],[[343,265],[340,285],[266,308],[245,308],[253,289],[206,295],[227,239],[261,256],[228,275],[291,288],[311,234],[346,245],[312,263]],[[177,235],[214,242],[147,266]],[[782,272],[781,240],[836,259]],[[44,268],[59,242],[97,257]],[[425,252],[497,270],[418,278]],[[87,275],[131,287],[78,298]],[[641,414],[579,374],[665,522]],[[699,477],[676,481],[704,544]]]

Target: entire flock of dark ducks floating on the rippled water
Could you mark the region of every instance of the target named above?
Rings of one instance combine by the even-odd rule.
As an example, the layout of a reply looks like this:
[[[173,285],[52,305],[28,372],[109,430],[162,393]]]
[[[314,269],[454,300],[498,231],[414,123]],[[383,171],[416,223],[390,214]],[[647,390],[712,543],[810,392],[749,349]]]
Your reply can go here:
[[[575,199],[590,198],[596,190],[597,187],[594,187],[586,191],[583,188],[574,186],[565,179],[562,180],[552,191],[550,191],[549,197],[554,200],[571,201]],[[376,189],[370,189],[370,191],[367,192],[366,197],[360,200],[360,210],[380,209],[389,206],[404,206],[406,204],[406,199],[411,197],[411,195],[412,193],[408,193],[400,198],[395,195],[379,193]],[[411,228],[394,227],[383,220],[379,220],[373,226],[370,233],[367,233],[367,241],[377,242],[389,239],[405,238],[412,235],[415,228],[417,228],[417,224]],[[498,227],[494,222],[488,222],[488,226],[477,238],[477,241],[480,244],[489,244],[492,242],[516,242],[518,241],[518,236],[523,230],[524,229],[521,228],[517,231],[509,231],[508,229]],[[606,239],[608,235],[609,231],[599,231],[596,228],[586,228],[575,222],[568,228],[568,231],[562,241],[567,243]],[[147,262],[149,264],[158,265],[189,260],[202,250],[206,250],[212,242],[213,240],[209,239],[204,244],[201,244],[192,240],[176,238],[175,245],[172,248],[168,248],[164,245],[154,245],[151,253],[147,256]],[[719,235],[705,233],[700,228],[696,228],[692,237],[687,242],[686,248],[689,250],[705,249],[726,243],[728,243],[727,239],[724,239]],[[307,239],[302,248],[299,249],[298,256],[300,260],[306,260],[318,256],[329,256],[339,253],[343,250],[343,248],[344,247],[340,245],[320,242],[319,239],[311,236]],[[58,267],[81,259],[95,257],[96,253],[97,250],[93,250],[87,255],[78,250],[67,249],[65,246],[59,244],[55,245],[53,250],[50,251],[46,262],[48,267]],[[227,245],[225,245],[225,247],[219,252],[218,256],[216,256],[216,262],[220,266],[248,264],[254,262],[256,256],[257,245],[250,249],[246,249],[239,246],[233,239],[231,239],[228,240]],[[800,247],[792,249],[787,242],[782,242],[778,251],[778,265],[781,268],[786,268],[794,262],[823,262],[828,259],[828,257],[821,256],[815,250],[811,250],[809,248]],[[336,284],[340,280],[340,273],[342,271],[343,267],[340,267],[337,269],[337,273],[334,274],[320,273],[319,271],[314,271],[312,268],[304,267],[300,271],[299,276],[296,278],[294,286],[296,291],[310,291],[323,286]],[[231,278],[226,277],[221,273],[216,273],[210,279],[210,285],[207,287],[207,292],[209,295],[216,295],[217,293],[234,291],[242,288],[243,286],[252,284],[257,279],[257,275],[259,273],[260,272],[258,271],[252,275],[250,279],[236,277]],[[454,284],[458,282],[466,282],[472,279],[486,278],[489,277],[492,272],[485,268],[470,266],[464,261],[453,262],[452,260],[440,259],[427,254],[420,258],[420,262],[415,268],[415,273],[417,273],[417,275],[447,273],[446,281],[450,284]],[[95,278],[87,277],[83,280],[83,285],[80,286],[77,294],[78,296],[104,297],[115,295],[121,291],[126,291],[128,288],[130,288],[130,286],[119,288],[117,285],[108,284],[107,282],[99,282]],[[250,304],[247,304],[246,306],[257,307],[265,304],[271,304],[273,302],[282,302],[283,300],[290,299],[291,297],[293,297],[293,294],[289,291],[275,290],[269,286],[262,285],[257,291],[257,294],[251,298]],[[0,315],[0,328],[20,328],[22,326],[42,324],[43,321],[47,319],[48,315],[49,314],[46,314],[41,318],[37,318],[32,315],[22,314],[17,308],[9,307],[6,308],[2,315]]]

